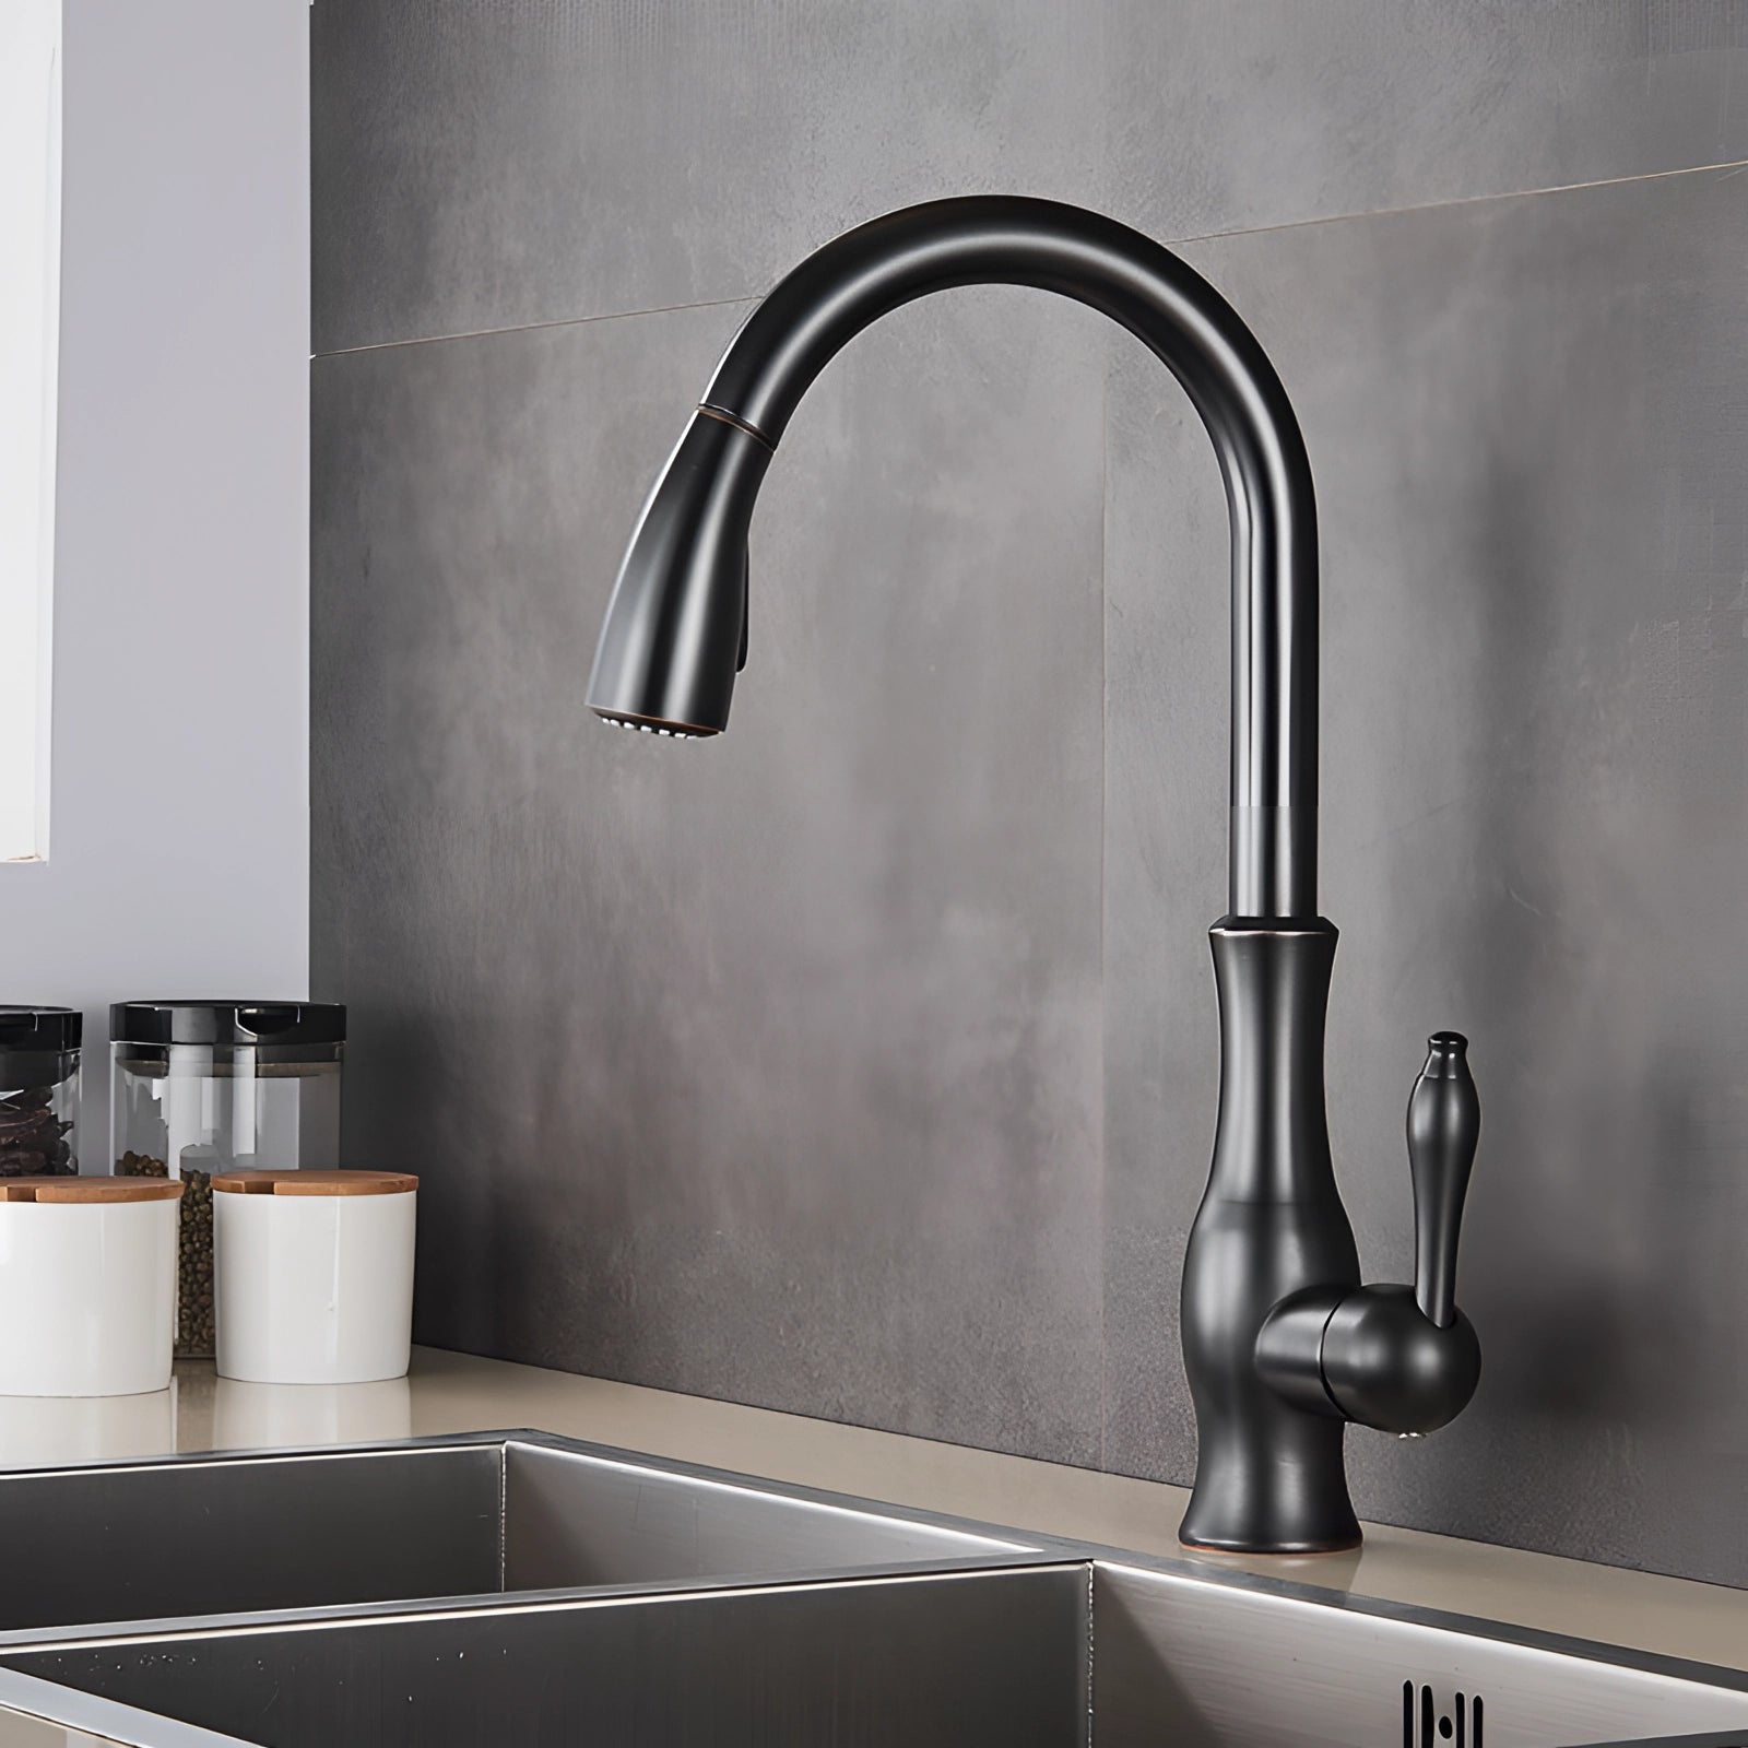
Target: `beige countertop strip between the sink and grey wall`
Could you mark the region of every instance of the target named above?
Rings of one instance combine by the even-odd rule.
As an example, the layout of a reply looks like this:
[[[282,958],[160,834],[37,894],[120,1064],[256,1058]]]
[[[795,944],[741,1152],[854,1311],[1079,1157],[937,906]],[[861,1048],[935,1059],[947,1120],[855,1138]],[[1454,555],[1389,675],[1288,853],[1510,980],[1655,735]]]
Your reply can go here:
[[[491,1428],[538,1428],[893,1505],[1189,1557],[1176,1542],[1182,1488],[428,1348],[414,1349],[409,1377],[386,1384],[238,1384],[215,1377],[210,1363],[185,1362],[171,1390],[156,1397],[10,1398],[0,1402],[0,1467]],[[1748,1669],[1748,1591],[1372,1524],[1365,1547],[1353,1554],[1196,1559]]]

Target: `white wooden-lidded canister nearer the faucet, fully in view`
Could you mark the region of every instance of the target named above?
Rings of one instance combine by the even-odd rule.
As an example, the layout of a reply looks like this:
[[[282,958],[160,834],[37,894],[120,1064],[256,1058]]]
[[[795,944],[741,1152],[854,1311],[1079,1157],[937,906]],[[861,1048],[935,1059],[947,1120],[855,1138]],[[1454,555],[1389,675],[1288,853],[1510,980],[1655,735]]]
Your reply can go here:
[[[218,1376],[252,1384],[402,1377],[418,1183],[406,1171],[215,1173]]]

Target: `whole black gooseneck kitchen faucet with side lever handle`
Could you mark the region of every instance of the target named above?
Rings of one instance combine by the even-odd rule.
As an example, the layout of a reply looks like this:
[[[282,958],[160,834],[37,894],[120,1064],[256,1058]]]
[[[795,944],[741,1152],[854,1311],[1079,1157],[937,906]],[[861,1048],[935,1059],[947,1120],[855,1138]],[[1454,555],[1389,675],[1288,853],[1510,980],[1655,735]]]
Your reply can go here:
[[[746,318],[638,519],[589,680],[608,722],[727,725],[746,662],[746,531],[808,385],[877,316],[953,285],[1103,309],[1183,385],[1232,517],[1232,811],[1213,925],[1220,1119],[1183,1264],[1196,1402],[1192,1547],[1351,1547],[1342,1433],[1423,1433],[1474,1395],[1456,1239],[1481,1131],[1467,1042],[1435,1033],[1409,1101],[1416,1285],[1362,1287],[1323,1110],[1335,928],[1316,911],[1316,503],[1299,421],[1255,336],[1161,245],[1079,206],[932,201],[809,255]]]

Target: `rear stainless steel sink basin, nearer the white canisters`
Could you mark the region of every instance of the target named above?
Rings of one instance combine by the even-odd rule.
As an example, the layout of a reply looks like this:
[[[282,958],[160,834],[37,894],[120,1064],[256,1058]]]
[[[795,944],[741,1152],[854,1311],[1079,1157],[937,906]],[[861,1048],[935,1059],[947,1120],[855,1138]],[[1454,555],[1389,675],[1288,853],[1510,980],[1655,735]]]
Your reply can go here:
[[[0,1645],[98,1622],[1007,1559],[1028,1543],[542,1433],[0,1477]]]

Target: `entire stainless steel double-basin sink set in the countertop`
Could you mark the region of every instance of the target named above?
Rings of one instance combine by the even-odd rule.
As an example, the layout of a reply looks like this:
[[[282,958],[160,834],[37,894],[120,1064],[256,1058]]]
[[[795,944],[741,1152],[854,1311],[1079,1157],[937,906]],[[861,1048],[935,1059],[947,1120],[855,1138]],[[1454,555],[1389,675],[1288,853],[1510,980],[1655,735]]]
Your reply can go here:
[[[1748,1676],[544,1433],[0,1477],[0,1748],[1748,1748]]]

